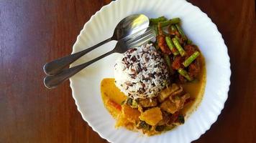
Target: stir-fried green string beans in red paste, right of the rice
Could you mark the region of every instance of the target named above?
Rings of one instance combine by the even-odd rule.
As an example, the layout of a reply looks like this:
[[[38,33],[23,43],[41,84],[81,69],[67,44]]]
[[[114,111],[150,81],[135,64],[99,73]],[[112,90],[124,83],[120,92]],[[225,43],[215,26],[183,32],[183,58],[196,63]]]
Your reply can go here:
[[[191,82],[200,70],[196,64],[193,64],[200,52],[180,27],[180,19],[166,19],[165,16],[160,16],[150,19],[150,25],[157,33],[155,48],[163,54],[170,74],[180,74],[178,76],[180,82]]]

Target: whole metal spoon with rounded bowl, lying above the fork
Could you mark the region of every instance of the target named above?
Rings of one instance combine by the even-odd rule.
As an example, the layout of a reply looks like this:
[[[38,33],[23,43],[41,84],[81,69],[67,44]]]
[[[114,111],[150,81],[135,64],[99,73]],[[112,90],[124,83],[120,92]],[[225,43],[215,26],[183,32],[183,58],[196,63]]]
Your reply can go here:
[[[88,49],[84,49],[83,51],[79,51],[75,54],[70,54],[68,56],[64,56],[60,59],[56,59],[54,61],[50,61],[49,63],[45,64],[43,69],[45,74],[47,75],[55,75],[60,73],[66,66],[76,61],[84,54],[96,49],[96,47],[101,46],[109,41],[116,40],[119,41],[131,34],[136,33],[137,31],[141,31],[142,29],[147,28],[149,26],[150,21],[144,14],[134,14],[131,16],[127,16],[126,18],[122,19],[119,24],[116,25],[114,29],[114,34],[111,38],[101,41],[99,44],[91,46]]]

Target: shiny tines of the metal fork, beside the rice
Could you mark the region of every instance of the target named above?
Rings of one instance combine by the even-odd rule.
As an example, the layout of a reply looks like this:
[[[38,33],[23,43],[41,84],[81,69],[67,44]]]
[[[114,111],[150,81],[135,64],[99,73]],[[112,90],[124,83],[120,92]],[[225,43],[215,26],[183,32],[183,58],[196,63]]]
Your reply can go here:
[[[155,31],[152,29],[145,32],[145,34],[142,34],[141,36],[136,37],[135,39],[131,39],[127,41],[128,47],[134,47],[134,46],[140,46],[142,44],[145,44],[145,42],[150,41],[150,39],[155,37]]]

